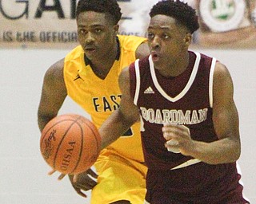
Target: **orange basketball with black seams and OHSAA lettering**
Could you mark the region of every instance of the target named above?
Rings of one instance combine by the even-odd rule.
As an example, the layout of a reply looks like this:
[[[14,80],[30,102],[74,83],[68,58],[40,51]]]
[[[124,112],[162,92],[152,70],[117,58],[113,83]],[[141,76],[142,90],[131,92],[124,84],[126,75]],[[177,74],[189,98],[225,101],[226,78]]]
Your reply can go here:
[[[43,128],[40,151],[46,163],[62,174],[88,170],[98,158],[101,137],[84,116],[66,114],[54,117]]]

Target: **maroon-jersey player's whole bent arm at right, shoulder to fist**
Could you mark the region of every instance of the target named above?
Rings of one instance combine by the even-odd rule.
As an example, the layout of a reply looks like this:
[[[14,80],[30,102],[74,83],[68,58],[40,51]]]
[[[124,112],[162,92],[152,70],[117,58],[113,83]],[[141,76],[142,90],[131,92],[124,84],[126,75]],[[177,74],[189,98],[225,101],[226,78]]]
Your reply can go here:
[[[214,70],[213,121],[218,140],[212,143],[195,141],[190,131],[181,125],[166,124],[162,128],[169,148],[178,148],[183,155],[190,155],[205,163],[232,163],[241,153],[238,111],[234,104],[234,87],[225,65],[217,62]]]

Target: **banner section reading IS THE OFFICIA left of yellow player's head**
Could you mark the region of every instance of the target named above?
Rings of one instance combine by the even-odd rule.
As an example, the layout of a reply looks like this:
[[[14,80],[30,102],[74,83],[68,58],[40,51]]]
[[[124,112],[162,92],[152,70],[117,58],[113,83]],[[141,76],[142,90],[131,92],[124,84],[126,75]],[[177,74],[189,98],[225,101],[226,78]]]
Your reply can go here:
[[[1,47],[77,45],[76,1],[0,0]]]

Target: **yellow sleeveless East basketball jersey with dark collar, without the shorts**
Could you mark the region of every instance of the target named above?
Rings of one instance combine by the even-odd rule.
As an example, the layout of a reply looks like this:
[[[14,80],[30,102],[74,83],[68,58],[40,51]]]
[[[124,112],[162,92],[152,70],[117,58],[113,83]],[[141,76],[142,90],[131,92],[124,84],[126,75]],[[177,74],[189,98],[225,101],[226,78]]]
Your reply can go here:
[[[118,76],[124,67],[135,61],[135,51],[146,39],[118,35],[118,41],[119,58],[114,61],[104,80],[94,74],[90,65],[86,65],[81,46],[73,49],[65,58],[64,80],[67,94],[90,114],[98,128],[118,108],[121,99]],[[130,131],[107,148],[124,157],[143,162],[139,123],[134,124]]]

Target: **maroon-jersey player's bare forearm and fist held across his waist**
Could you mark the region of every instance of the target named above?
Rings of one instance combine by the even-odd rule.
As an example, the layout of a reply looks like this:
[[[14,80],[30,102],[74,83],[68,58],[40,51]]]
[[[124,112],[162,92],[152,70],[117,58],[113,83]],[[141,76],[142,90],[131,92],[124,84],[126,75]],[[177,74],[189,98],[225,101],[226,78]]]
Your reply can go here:
[[[218,118],[218,120],[221,120]],[[230,127],[230,126],[229,126]],[[218,131],[218,140],[206,143],[191,138],[190,131],[183,125],[164,124],[162,131],[168,151],[178,150],[182,155],[191,156],[204,163],[233,163],[241,153],[241,144],[236,128]],[[219,129],[218,129],[219,130]]]

